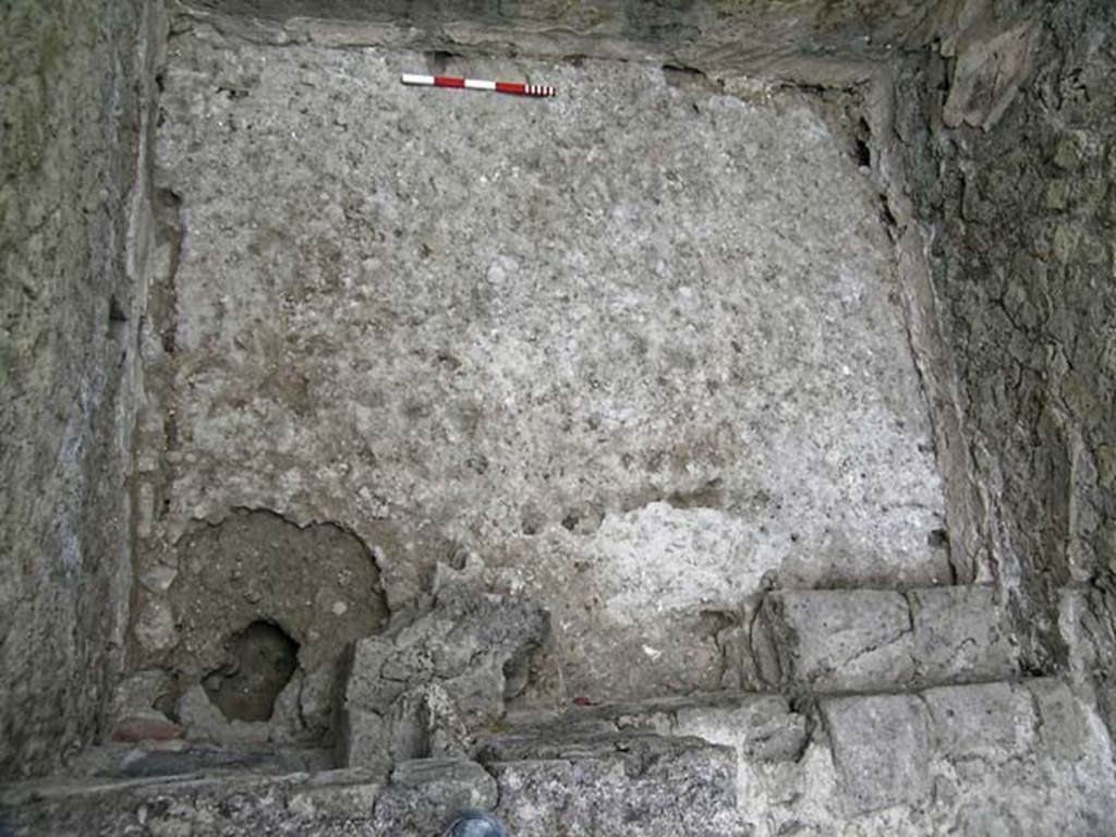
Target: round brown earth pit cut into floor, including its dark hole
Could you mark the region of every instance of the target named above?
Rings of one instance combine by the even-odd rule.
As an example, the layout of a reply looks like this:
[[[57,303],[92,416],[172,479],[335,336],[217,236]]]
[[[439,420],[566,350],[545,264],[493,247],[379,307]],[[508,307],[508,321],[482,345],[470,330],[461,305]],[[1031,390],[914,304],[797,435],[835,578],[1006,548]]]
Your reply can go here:
[[[201,682],[233,720],[290,723],[271,716],[289,683],[300,724],[290,731],[327,734],[345,648],[387,623],[367,545],[334,523],[300,527],[272,511],[237,509],[192,525],[175,552],[167,595],[177,644],[151,663],[174,671],[180,684]]]

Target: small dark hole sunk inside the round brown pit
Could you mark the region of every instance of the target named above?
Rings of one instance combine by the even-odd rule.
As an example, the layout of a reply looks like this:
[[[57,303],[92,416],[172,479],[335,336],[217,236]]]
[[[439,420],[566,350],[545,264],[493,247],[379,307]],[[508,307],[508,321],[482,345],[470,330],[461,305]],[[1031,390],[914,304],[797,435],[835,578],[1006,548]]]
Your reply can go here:
[[[229,637],[229,660],[202,685],[230,721],[269,721],[298,667],[298,643],[278,625],[253,622]]]

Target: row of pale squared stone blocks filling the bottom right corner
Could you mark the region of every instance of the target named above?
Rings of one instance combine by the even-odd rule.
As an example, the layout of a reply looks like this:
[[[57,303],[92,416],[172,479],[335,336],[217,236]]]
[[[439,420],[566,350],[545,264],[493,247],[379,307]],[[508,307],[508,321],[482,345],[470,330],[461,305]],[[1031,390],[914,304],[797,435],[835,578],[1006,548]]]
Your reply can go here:
[[[1114,827],[1107,734],[1059,681],[834,699],[821,715],[838,804],[854,820],[974,837]]]

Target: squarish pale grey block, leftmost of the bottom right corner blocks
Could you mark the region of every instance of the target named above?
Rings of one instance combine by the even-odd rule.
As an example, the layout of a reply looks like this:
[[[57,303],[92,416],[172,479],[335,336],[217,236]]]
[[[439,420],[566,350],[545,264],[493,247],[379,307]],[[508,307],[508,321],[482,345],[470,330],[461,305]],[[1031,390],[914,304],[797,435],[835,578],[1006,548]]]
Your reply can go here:
[[[911,695],[834,698],[820,709],[848,814],[929,798],[929,719],[922,701]]]

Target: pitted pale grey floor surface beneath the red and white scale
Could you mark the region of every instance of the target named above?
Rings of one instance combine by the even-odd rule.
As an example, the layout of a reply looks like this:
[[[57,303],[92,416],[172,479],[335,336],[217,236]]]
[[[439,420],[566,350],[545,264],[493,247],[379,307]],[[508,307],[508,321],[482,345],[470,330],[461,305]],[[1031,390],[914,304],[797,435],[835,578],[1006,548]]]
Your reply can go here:
[[[594,61],[460,68],[554,100],[398,84],[425,67],[172,38],[154,539],[335,521],[393,607],[469,547],[554,614],[535,696],[716,685],[764,576],[949,581],[878,196],[807,99]]]

